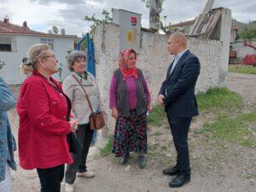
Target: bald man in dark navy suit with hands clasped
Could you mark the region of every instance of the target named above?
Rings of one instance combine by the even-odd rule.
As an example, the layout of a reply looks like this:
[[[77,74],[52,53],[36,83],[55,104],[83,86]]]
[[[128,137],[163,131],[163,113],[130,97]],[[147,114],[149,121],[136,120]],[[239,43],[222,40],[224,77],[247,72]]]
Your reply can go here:
[[[157,103],[165,106],[177,151],[177,164],[163,170],[166,175],[177,175],[170,187],[181,187],[190,181],[189,126],[193,116],[198,116],[195,100],[195,83],[200,74],[200,62],[187,48],[183,33],[176,32],[168,40],[168,52],[174,54],[166,81],[162,83]]]

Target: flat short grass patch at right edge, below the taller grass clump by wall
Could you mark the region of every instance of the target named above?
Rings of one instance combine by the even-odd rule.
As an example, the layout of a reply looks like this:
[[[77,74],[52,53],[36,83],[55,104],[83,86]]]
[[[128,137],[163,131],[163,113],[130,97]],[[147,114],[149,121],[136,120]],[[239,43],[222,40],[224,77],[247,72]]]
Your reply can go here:
[[[256,110],[235,118],[219,115],[213,123],[206,123],[203,130],[225,141],[254,148],[256,138],[253,136],[252,130],[247,127],[247,122],[256,122]]]

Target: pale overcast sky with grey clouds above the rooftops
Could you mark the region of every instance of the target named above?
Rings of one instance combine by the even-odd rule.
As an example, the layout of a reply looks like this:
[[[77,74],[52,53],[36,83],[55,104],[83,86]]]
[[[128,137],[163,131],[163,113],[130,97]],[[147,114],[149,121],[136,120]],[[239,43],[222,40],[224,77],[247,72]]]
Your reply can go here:
[[[172,24],[194,19],[203,10],[207,0],[165,0],[161,17]],[[215,0],[213,8],[230,8],[232,17],[241,22],[256,20],[255,0]],[[0,20],[9,16],[11,23],[22,25],[26,20],[32,30],[47,32],[56,25],[65,28],[68,35],[81,36],[89,31],[90,23],[84,15],[102,16],[102,9],[122,8],[143,14],[142,24],[148,27],[148,8],[141,0],[0,0]]]

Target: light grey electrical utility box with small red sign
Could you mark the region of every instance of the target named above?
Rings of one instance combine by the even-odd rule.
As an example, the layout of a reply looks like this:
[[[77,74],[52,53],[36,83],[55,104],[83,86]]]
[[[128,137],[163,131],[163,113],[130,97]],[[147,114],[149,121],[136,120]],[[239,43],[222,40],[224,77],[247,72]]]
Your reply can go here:
[[[119,25],[119,50],[133,48],[137,54],[140,49],[142,14],[112,8],[113,23]]]

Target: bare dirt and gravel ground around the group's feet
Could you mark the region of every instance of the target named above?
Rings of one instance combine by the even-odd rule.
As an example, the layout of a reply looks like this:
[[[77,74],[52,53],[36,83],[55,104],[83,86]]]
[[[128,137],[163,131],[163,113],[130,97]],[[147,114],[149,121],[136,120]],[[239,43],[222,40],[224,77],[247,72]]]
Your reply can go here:
[[[227,87],[240,93],[246,100],[248,108],[256,105],[256,76],[230,73]],[[17,88],[13,88],[17,93]],[[15,138],[17,138],[18,117],[15,110],[9,112]],[[202,114],[191,125],[189,135],[191,182],[180,189],[170,189],[168,183],[173,177],[165,176],[162,169],[175,163],[175,150],[172,144],[170,129],[165,123],[161,127],[148,128],[148,166],[141,170],[137,167],[137,155],[125,166],[113,155],[95,157],[92,153],[87,166],[96,173],[95,178],[77,178],[75,191],[78,192],[159,192],[159,191],[255,191],[255,148],[244,148],[240,145],[223,144],[210,138],[194,134],[193,130],[203,124],[203,119],[211,117]],[[94,151],[97,151],[93,149]],[[17,153],[16,160],[18,161]],[[19,164],[19,162],[18,162]],[[253,177],[251,177],[253,175]],[[12,172],[13,191],[39,191],[38,177],[35,171],[25,171],[18,166]],[[64,183],[61,184],[64,191]]]

